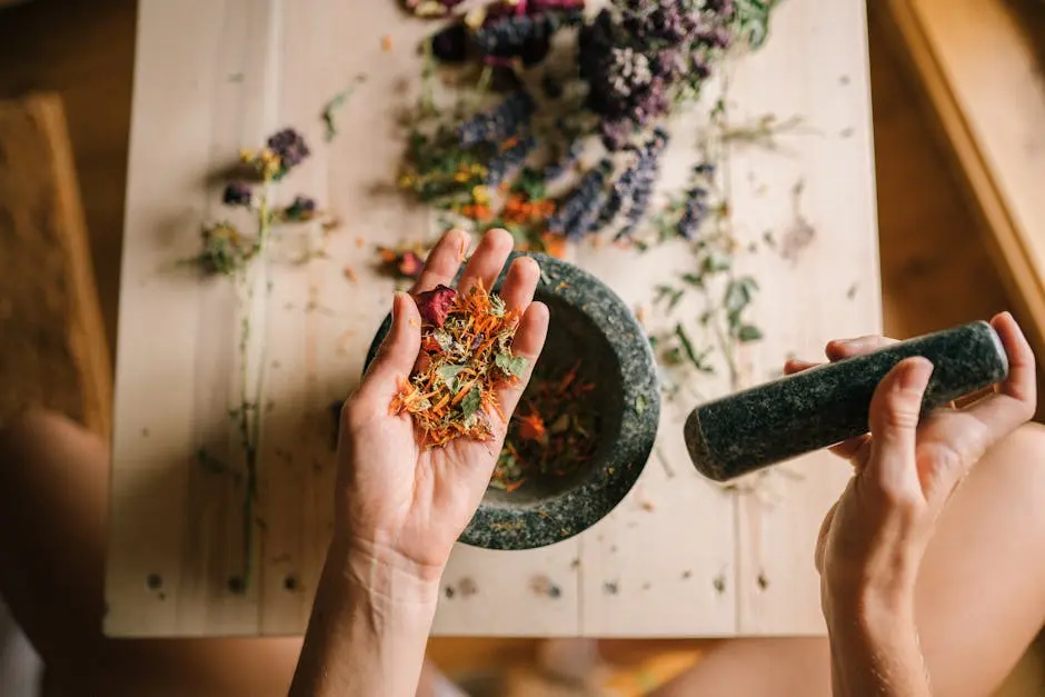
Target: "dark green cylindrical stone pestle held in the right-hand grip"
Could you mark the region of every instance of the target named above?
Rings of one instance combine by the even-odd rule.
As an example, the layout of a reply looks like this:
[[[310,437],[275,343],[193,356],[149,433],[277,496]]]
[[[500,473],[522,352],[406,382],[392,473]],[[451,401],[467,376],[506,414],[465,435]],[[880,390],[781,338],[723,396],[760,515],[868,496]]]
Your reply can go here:
[[[694,467],[709,479],[728,481],[866,434],[875,388],[913,356],[935,367],[923,414],[1008,375],[1005,349],[987,322],[900,341],[697,407],[685,428]]]

